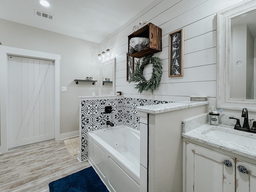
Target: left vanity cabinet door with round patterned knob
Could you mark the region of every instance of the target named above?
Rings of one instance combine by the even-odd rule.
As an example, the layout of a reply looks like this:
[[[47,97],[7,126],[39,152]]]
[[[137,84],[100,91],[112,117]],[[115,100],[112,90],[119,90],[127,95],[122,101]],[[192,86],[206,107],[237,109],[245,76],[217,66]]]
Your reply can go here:
[[[224,160],[230,162],[224,165]],[[235,159],[186,144],[186,192],[234,192]]]

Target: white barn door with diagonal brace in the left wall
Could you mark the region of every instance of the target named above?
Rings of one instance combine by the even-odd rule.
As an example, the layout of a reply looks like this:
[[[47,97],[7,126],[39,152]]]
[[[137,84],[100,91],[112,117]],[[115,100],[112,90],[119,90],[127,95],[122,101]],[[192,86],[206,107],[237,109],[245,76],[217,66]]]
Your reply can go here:
[[[54,139],[54,62],[8,56],[8,148]]]

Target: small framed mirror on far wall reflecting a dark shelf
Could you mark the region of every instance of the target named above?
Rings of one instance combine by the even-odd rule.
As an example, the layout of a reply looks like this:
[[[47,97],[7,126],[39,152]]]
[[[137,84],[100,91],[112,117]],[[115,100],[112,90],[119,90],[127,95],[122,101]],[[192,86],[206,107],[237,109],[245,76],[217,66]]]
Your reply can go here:
[[[100,64],[100,92],[101,95],[115,95],[115,66],[116,59],[112,58]]]

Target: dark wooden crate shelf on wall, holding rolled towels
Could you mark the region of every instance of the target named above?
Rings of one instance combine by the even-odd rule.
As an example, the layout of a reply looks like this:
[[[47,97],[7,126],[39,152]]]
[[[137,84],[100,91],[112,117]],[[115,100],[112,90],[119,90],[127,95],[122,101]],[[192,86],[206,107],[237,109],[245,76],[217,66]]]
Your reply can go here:
[[[152,23],[148,23],[128,36],[128,52],[130,48],[130,39],[133,37],[149,38],[149,45],[144,50],[129,54],[131,57],[142,58],[162,51],[162,29]]]

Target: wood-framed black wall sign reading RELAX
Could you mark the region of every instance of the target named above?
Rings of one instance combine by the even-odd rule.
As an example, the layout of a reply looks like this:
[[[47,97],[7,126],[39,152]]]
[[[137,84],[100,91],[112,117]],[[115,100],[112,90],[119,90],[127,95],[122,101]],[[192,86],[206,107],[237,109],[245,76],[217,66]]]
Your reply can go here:
[[[183,76],[183,29],[169,34],[169,77]]]

